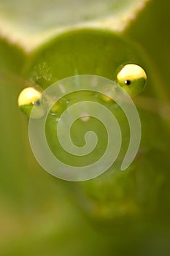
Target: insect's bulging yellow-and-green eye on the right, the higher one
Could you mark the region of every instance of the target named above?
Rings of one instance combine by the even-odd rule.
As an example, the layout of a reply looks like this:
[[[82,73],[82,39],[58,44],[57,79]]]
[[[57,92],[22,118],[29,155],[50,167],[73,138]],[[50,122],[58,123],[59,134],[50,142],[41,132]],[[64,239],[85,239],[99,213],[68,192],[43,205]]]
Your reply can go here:
[[[125,65],[117,74],[117,83],[132,97],[144,90],[146,82],[146,72],[136,64]]]

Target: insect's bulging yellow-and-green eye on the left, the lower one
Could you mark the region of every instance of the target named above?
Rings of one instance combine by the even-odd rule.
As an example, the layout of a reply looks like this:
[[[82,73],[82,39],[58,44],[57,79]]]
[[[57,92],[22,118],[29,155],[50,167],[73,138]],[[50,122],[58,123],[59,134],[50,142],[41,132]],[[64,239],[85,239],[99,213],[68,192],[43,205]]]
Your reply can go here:
[[[34,89],[33,87],[27,87],[20,92],[18,97],[18,106],[23,113],[29,117],[31,110],[35,105],[33,118],[42,118],[45,115],[45,109],[42,104],[42,92]]]

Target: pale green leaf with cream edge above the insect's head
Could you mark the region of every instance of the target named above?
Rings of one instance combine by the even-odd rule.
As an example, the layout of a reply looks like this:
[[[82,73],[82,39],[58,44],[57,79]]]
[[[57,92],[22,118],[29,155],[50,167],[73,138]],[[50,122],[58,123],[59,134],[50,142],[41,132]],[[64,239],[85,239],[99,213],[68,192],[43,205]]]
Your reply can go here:
[[[70,29],[96,27],[122,32],[147,1],[2,0],[0,34],[30,51]]]

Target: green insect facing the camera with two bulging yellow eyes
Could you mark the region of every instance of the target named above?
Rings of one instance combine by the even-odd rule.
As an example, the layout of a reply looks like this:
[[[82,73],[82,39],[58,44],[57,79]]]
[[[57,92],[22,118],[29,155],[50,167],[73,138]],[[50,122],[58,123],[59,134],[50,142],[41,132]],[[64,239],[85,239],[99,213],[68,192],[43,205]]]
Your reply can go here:
[[[26,78],[31,80],[33,86],[29,86],[20,92],[18,105],[28,117],[32,108],[35,106],[37,111],[35,112],[36,115],[34,118],[42,118],[46,113],[42,91],[53,83],[74,75],[97,75],[108,78],[109,80],[115,81],[134,98],[136,95],[141,94],[146,86],[147,75],[144,69],[147,69],[147,66],[145,64],[146,62],[142,59],[140,50],[134,47],[131,42],[128,42],[127,39],[117,36],[112,31],[77,29],[66,32],[47,42],[39,50],[32,53],[26,70]],[[92,164],[102,156],[107,146],[106,129],[95,118],[80,118],[75,121],[74,129],[71,130],[72,141],[78,147],[85,145],[85,133],[91,129],[96,133],[98,138],[101,138],[101,140],[98,140],[98,145],[92,154],[87,157],[77,157],[69,154],[61,148],[58,140],[54,140],[57,132],[56,120],[63,113],[63,110],[74,105],[74,103],[89,100],[99,102],[106,106],[115,114],[116,118],[120,118],[120,127],[123,127],[123,145],[128,147],[129,142],[127,140],[129,138],[128,121],[123,111],[117,108],[117,104],[107,96],[92,93],[91,91],[81,91],[81,88],[79,89],[80,91],[64,96],[57,105],[54,105],[54,108],[47,116],[45,127],[47,142],[53,154],[58,159],[61,159],[61,162],[73,166]],[[121,151],[116,162],[118,167],[120,167],[124,156],[125,151]],[[109,170],[111,172],[109,175],[111,176],[112,170],[111,167]],[[108,216],[112,218],[113,216],[119,215],[119,210],[122,208],[122,200],[117,202],[116,211],[112,205],[109,205],[109,201],[112,201],[112,195],[117,195],[117,191],[120,191],[122,198],[127,197],[125,194],[127,176],[128,174],[126,173],[123,175],[124,179],[122,182],[119,181],[120,176],[106,178],[104,181],[104,177],[107,177],[106,174],[106,176],[100,176],[96,180],[89,181],[87,184],[81,184],[82,187],[84,186],[81,189],[84,190],[88,200],[92,198],[94,206],[93,216],[100,215],[98,209],[101,211],[102,208],[108,208],[108,211],[103,211],[101,218],[107,219]],[[128,180],[130,180],[130,183],[133,183],[133,177],[129,176]],[[117,186],[119,187],[118,189]],[[90,187],[93,187],[93,189],[90,189]],[[109,189],[106,189],[107,187]],[[100,195],[100,192],[102,195]],[[134,193],[130,197],[129,201],[133,202]],[[133,208],[131,204],[127,204],[124,209],[125,212],[133,215],[138,210],[137,207]],[[131,212],[132,208],[133,212]]]

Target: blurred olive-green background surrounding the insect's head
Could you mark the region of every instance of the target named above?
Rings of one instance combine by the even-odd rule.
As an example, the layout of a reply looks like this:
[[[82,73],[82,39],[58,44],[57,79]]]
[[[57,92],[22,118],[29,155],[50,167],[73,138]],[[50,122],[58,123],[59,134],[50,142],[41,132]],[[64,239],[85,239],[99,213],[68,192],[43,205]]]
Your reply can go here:
[[[22,5],[20,1],[7,3],[10,12],[5,9],[4,1],[0,1],[0,13],[9,13],[6,20],[12,20],[12,13],[16,17]],[[90,7],[90,3],[87,4]],[[32,8],[35,15],[38,6]],[[128,39],[142,45],[151,74],[148,80],[152,80],[142,95],[144,100],[136,102],[144,124],[142,154],[138,157],[138,167],[133,170],[135,186],[129,189],[132,194],[137,191],[145,197],[139,196],[144,211],[133,219],[126,216],[102,219],[98,207],[95,213],[87,209],[91,197],[95,200],[98,194],[102,198],[100,183],[103,180],[99,184],[87,181],[78,185],[61,181],[36,163],[28,142],[28,120],[17,105],[18,94],[26,84],[23,67],[28,56],[19,43],[12,43],[9,35],[2,33],[0,255],[170,255],[169,10],[169,1],[152,0],[123,31]],[[28,24],[29,12],[26,20]],[[142,176],[136,176],[136,172]],[[128,178],[123,182],[127,182],[128,195]],[[119,192],[115,198],[110,196],[112,186],[118,191],[120,183],[118,178],[115,184],[107,182],[104,187],[111,197],[110,207],[114,206],[114,200],[119,200]]]

